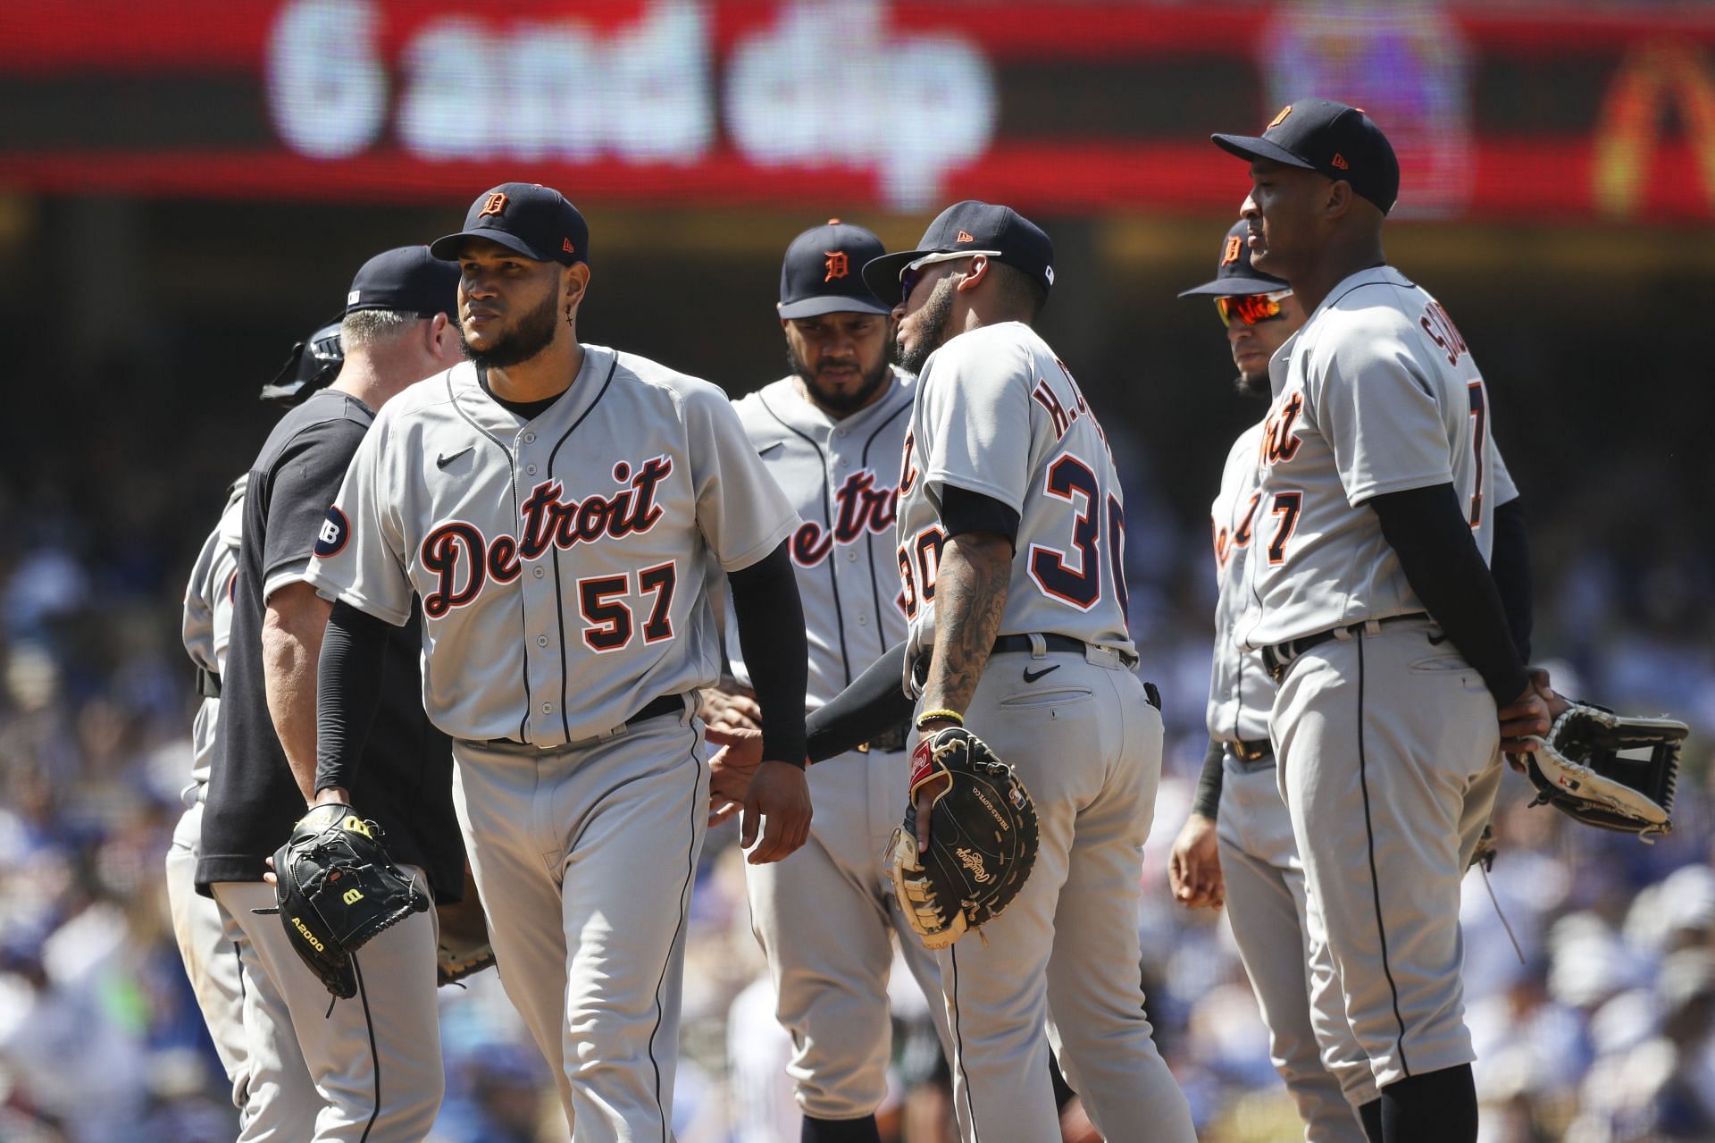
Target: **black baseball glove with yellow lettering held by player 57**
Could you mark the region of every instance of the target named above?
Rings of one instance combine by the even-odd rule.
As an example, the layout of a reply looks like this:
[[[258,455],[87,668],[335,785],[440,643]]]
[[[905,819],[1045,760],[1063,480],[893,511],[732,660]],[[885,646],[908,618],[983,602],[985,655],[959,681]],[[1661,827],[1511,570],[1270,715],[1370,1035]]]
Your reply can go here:
[[[286,939],[310,971],[348,1001],[357,995],[352,954],[370,937],[429,908],[429,896],[388,860],[381,827],[348,805],[310,808],[274,851],[274,899]]]

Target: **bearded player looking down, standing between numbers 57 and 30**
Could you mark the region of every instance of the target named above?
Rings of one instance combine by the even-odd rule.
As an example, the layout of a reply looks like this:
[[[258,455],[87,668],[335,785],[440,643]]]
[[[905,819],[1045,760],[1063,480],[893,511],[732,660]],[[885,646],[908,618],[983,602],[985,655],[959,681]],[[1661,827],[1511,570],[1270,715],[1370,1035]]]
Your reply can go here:
[[[906,637],[895,481],[916,386],[888,366],[888,307],[863,283],[863,264],[882,254],[880,239],[837,218],[792,239],[779,302],[792,372],[734,405],[804,520],[792,534],[792,565],[809,640],[809,707],[840,693]],[[731,621],[727,649],[744,685],[746,662],[773,654],[744,652]],[[791,862],[748,868],[751,925],[768,958],[779,1019],[792,1033],[787,1071],[804,1117],[801,1138],[811,1143],[880,1140],[894,932],[906,935],[906,965],[924,992],[940,995],[935,958],[904,923],[882,863],[911,771],[906,735],[900,717],[868,750],[809,771],[809,841]]]

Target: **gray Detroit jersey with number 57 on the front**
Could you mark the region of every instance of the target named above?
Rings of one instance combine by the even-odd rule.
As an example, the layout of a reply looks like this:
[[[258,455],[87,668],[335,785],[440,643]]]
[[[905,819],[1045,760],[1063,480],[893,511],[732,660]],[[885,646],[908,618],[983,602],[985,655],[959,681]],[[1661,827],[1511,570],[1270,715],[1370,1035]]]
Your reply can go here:
[[[394,625],[418,594],[436,726],[547,748],[719,678],[705,565],[797,525],[719,388],[587,345],[525,424],[468,362],[388,402],[309,578]]]

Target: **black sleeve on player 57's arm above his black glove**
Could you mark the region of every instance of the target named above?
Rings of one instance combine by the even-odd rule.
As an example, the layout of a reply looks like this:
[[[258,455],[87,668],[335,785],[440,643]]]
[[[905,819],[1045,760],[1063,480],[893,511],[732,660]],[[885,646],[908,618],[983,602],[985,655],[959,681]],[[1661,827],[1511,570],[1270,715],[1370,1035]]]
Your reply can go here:
[[[316,789],[352,788],[381,709],[388,623],[336,602],[316,664]]]

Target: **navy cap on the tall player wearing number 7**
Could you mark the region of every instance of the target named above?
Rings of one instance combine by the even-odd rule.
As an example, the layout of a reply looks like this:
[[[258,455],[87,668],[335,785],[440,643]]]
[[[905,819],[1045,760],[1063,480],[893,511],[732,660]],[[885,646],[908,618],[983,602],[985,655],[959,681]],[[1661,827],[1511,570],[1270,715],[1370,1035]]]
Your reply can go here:
[[[1209,137],[1240,158],[1274,160],[1350,182],[1382,215],[1399,197],[1399,160],[1363,108],[1333,100],[1295,100],[1261,136]]]

